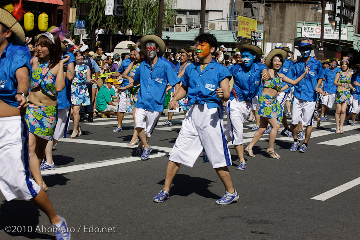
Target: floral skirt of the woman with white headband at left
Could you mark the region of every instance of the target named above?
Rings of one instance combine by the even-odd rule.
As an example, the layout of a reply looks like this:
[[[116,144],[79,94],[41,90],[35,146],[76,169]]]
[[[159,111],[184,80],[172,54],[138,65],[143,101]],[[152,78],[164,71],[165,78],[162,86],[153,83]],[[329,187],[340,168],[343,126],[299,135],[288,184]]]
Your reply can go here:
[[[27,103],[25,120],[31,133],[51,141],[57,122],[57,107]]]

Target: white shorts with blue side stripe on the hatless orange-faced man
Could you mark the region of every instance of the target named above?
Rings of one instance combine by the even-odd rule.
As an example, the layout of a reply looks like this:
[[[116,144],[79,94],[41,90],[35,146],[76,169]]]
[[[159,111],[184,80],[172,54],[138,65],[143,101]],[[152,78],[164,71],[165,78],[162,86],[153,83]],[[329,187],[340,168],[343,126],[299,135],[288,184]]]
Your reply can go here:
[[[193,167],[205,149],[213,168],[230,166],[231,154],[223,132],[223,113],[207,105],[190,106],[186,119],[170,154],[170,161]]]

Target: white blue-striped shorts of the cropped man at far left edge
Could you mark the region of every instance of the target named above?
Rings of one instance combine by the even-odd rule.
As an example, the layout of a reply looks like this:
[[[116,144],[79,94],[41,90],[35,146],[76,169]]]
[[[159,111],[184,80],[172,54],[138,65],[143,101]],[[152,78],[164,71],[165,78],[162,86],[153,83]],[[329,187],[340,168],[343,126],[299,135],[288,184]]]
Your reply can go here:
[[[41,190],[30,172],[28,135],[24,117],[0,117],[0,189],[7,201],[29,200]]]

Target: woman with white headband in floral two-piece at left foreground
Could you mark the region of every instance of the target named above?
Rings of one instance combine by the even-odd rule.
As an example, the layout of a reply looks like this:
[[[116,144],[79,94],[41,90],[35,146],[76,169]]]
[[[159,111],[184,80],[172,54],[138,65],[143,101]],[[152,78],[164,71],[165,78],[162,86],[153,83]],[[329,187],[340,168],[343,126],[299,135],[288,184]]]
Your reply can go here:
[[[54,29],[54,32],[57,29]],[[61,36],[61,37],[64,37]],[[31,173],[38,185],[47,190],[42,179],[40,164],[47,141],[52,140],[57,118],[57,92],[65,87],[64,64],[69,56],[62,58],[60,37],[45,32],[38,40],[38,57],[32,60],[30,94],[26,109],[26,122],[30,137]]]

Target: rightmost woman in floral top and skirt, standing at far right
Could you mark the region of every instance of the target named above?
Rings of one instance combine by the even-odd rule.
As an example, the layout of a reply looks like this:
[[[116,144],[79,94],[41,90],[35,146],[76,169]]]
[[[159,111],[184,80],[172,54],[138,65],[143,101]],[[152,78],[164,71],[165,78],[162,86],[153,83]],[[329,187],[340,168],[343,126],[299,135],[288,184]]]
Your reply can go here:
[[[337,134],[343,134],[343,123],[346,117],[347,105],[350,105],[350,88],[353,92],[356,92],[356,89],[351,85],[351,72],[348,69],[349,62],[346,59],[341,61],[341,71],[336,73],[336,78],[334,85],[337,86],[335,102],[336,102],[336,113],[335,113],[335,122],[336,122],[336,131]],[[339,126],[340,119],[340,126]]]

